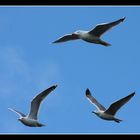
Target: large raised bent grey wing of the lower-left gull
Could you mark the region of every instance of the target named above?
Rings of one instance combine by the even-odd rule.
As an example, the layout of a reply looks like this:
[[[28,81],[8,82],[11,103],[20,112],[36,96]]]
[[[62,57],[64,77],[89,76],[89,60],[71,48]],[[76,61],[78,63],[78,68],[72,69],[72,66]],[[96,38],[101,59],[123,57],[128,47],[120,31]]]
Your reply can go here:
[[[51,93],[57,85],[51,86],[50,88],[44,90],[37,96],[35,96],[31,102],[31,108],[30,108],[30,113],[28,115],[29,118],[37,120],[37,115],[39,111],[40,104],[42,100],[49,94]]]

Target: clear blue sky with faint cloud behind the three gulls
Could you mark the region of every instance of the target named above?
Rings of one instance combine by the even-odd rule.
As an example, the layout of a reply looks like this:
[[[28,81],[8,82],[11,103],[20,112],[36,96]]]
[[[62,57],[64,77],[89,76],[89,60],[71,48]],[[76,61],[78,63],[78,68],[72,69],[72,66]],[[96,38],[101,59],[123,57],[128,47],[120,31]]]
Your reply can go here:
[[[139,133],[140,7],[36,6],[0,7],[0,133]],[[82,40],[51,44],[64,34],[126,16],[106,32],[104,47]],[[29,112],[31,99],[58,84],[30,128],[7,108]],[[85,90],[105,107],[132,92],[116,114],[121,123],[105,121],[92,110]]]

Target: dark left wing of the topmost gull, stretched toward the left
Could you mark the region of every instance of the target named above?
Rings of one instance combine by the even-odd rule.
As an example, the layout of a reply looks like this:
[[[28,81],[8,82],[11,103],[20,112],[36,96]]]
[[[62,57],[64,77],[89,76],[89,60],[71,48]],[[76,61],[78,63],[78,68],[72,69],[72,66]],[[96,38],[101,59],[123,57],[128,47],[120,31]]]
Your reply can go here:
[[[65,42],[65,41],[70,41],[70,40],[75,40],[75,39],[79,39],[78,35],[67,34],[63,37],[60,37],[58,40],[54,41],[53,43],[60,43],[60,42]]]

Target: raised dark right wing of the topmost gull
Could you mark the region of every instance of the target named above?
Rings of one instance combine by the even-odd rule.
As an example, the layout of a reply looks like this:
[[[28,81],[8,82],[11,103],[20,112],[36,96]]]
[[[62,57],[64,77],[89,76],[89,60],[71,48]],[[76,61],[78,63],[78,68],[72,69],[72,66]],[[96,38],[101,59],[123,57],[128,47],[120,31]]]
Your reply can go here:
[[[112,27],[114,27],[114,26],[118,25],[119,23],[123,22],[124,19],[125,19],[125,17],[121,18],[119,20],[116,20],[114,22],[98,24],[94,29],[89,31],[89,33],[100,37],[101,35],[103,35],[106,31],[108,31]]]

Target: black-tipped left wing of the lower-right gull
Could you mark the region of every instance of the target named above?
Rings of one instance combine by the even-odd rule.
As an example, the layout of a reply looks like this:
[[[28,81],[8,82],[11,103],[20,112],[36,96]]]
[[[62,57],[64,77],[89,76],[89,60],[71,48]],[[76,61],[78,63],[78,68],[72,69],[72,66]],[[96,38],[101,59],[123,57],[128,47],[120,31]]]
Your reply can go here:
[[[101,104],[91,95],[91,92],[90,92],[89,89],[86,90],[86,97],[87,97],[87,99],[88,99],[93,105],[96,106],[96,108],[97,108],[98,110],[103,110],[103,111],[106,110],[106,108],[105,108],[103,105],[101,105]]]

